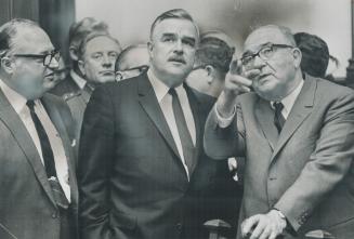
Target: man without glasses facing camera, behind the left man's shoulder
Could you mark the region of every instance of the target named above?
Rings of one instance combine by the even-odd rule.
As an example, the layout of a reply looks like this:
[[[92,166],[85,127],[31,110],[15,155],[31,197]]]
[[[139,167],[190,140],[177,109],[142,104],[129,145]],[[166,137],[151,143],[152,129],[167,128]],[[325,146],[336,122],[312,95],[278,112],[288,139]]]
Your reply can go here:
[[[86,84],[82,89],[64,95],[75,121],[75,138],[79,140],[86,106],[99,84],[115,81],[115,63],[121,51],[119,42],[107,34],[92,32],[78,48],[78,65]]]

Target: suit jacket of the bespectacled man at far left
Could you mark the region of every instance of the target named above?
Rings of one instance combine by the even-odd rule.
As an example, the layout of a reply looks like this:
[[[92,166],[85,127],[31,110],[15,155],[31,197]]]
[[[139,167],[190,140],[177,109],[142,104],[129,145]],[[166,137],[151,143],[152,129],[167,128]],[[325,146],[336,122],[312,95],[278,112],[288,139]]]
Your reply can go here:
[[[68,136],[70,112],[54,95],[45,94],[42,102],[60,133],[68,159],[71,208],[77,224],[75,156]],[[0,238],[60,239],[58,208],[44,167],[27,129],[1,91],[0,160]]]

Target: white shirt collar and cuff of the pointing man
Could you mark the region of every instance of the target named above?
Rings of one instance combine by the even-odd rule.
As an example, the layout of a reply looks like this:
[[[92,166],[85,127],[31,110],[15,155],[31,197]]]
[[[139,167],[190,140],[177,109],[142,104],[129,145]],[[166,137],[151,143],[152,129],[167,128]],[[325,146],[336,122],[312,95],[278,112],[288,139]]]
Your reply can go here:
[[[298,96],[299,96],[299,94],[301,92],[302,87],[303,87],[303,80],[301,80],[301,82],[298,84],[298,87],[290,94],[288,94],[287,96],[285,96],[280,101],[281,104],[284,105],[284,108],[281,110],[281,115],[283,115],[283,117],[284,117],[285,120],[288,119],[288,116],[289,116],[289,114],[290,114],[290,111],[292,109],[292,106],[293,106],[294,102],[297,101],[297,98],[298,98]],[[271,107],[274,109],[273,103],[274,102],[270,102]],[[228,127],[232,123],[232,121],[233,121],[233,119],[234,119],[234,117],[236,115],[236,106],[234,108],[233,115],[231,117],[228,117],[228,118],[222,117],[219,114],[217,107],[215,107],[215,114],[217,114],[219,127],[226,128],[226,127]]]

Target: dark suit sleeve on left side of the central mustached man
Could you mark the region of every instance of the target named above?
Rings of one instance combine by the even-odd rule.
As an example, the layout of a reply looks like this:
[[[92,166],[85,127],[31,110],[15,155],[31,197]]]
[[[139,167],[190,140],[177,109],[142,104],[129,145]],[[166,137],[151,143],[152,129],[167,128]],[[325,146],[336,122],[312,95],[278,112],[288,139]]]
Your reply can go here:
[[[109,239],[109,175],[114,158],[114,114],[108,90],[97,88],[87,106],[79,148],[79,218],[84,239]]]

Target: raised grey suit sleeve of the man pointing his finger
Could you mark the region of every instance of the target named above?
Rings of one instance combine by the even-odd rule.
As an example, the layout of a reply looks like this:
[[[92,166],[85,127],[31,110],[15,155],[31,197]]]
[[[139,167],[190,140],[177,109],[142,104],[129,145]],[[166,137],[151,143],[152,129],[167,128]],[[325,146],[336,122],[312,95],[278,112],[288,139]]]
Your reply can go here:
[[[225,159],[245,155],[245,129],[241,107],[236,106],[236,115],[233,122],[221,128],[218,122],[215,107],[211,109],[205,129],[204,145],[206,154],[213,159]]]

